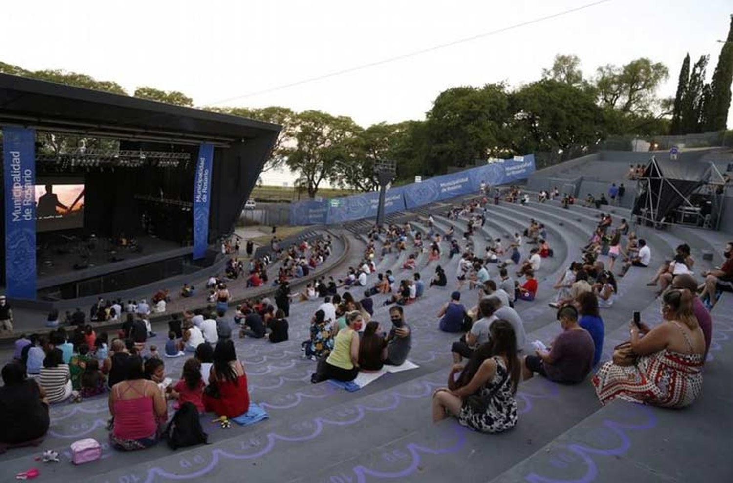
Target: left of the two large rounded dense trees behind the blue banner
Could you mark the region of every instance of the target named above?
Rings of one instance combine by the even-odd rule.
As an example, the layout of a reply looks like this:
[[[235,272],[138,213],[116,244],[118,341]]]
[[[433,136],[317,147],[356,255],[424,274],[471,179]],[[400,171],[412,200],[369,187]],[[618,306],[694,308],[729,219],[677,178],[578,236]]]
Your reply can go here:
[[[446,166],[471,166],[508,139],[509,95],[503,84],[454,87],[441,92],[427,113],[430,150],[425,174]]]

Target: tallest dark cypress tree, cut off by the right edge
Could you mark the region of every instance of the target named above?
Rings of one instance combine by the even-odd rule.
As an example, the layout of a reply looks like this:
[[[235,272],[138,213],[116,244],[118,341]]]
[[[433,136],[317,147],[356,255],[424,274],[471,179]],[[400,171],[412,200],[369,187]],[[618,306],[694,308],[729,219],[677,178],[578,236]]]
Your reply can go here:
[[[706,130],[724,130],[731,105],[731,83],[733,82],[733,15],[728,37],[718,56],[718,65],[712,74],[710,97],[706,104]]]

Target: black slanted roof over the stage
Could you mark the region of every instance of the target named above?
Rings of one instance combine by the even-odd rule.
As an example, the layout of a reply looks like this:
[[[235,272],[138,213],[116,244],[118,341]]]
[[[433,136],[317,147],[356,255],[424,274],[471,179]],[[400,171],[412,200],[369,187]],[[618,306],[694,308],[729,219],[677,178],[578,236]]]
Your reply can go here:
[[[0,125],[138,141],[220,146],[277,136],[279,125],[0,74]]]

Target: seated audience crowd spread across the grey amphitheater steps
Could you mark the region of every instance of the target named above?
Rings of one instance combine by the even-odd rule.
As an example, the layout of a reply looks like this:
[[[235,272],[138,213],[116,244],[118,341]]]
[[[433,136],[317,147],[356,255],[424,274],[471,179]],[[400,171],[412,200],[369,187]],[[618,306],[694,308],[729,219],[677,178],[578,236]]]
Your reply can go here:
[[[504,193],[510,202],[523,202],[524,196],[528,195],[517,187]],[[544,196],[555,199],[559,193],[555,190]],[[451,346],[454,365],[446,387],[438,388],[432,397],[433,421],[454,416],[460,424],[480,432],[510,429],[517,424],[515,394],[520,381],[534,374],[556,383],[578,384],[595,370],[591,382],[603,405],[625,399],[682,408],[695,401],[712,339],[709,310],[721,292],[733,291],[733,244],[726,246],[726,262],[720,268],[702,273],[705,279],[700,286],[692,272],[690,247],[677,247],[674,258],[664,262],[649,282],[660,284],[662,322],[653,328],[641,320],[631,322],[629,342],[602,363],[605,326],[601,311],[614,306],[618,297],[616,276],[623,276],[630,267],[649,267],[652,253],[646,241],[637,240],[625,220],[614,228],[611,214],[602,213],[582,258],[562,270],[553,285],[558,292],[550,306],[556,309],[559,335],[549,347],[539,341],[528,344],[523,318],[516,309],[517,304],[537,298],[535,276],[546,270],[543,259],[553,255],[548,234],[543,224],[532,219],[523,235],[517,232],[507,246],[489,238],[485,253],[476,254],[474,240],[484,236],[480,228],[489,205],[488,197],[482,196],[450,210],[446,218],[454,223],[442,236],[439,231],[443,230],[438,229],[432,215],[425,235],[410,224],[375,227],[369,232],[370,242],[358,268],[350,268],[338,282],[333,276],[321,276],[297,293],[290,292],[289,279],[323,263],[331,253],[331,240],[303,242],[287,251],[273,241],[273,252],[282,265],[272,298],[244,301],[236,306],[233,317],[227,317],[232,297],[226,284],[246,271],[235,260],[227,267],[226,279],[213,276],[209,280],[207,289],[211,292],[205,309],[172,315],[162,355],[155,345],[147,343],[154,336],[148,317],[155,310],[145,300],[123,304],[100,298],[95,303],[92,315],[96,320],[124,320],[111,340],[108,333],[97,334],[86,324],[85,314],[79,310],[81,316],[74,313],[67,317],[75,325],[73,331],[54,326],[49,336],[21,336],[15,341],[13,361],[2,369],[0,408],[4,410],[0,410],[0,419],[31,418],[33,424],[2,436],[0,451],[40,443],[50,424],[48,406],[73,397],[108,392],[109,437],[121,450],[158,443],[169,420],[168,400],[174,400],[174,408],[190,402],[200,413],[229,418],[246,413],[247,377],[232,334],[238,330],[241,339],[287,341],[292,298],[323,301],[312,314],[309,339],[301,343],[303,355],[316,362],[312,383],[328,379],[348,383],[359,372],[402,365],[413,344],[404,307],[425,296],[427,289],[419,270],[441,259],[441,243],[457,247],[455,253],[460,254],[455,275],[458,290],[450,293],[438,311],[435,329],[461,336]],[[458,221],[467,226],[460,241],[455,236]],[[415,254],[408,253],[410,239]],[[526,244],[533,247],[522,259],[520,250]],[[377,273],[378,245],[381,257],[393,250],[405,252],[402,268],[410,270],[410,276],[398,283],[391,270]],[[435,251],[438,257],[432,258]],[[428,265],[420,266],[421,253],[429,254]],[[505,258],[507,254],[509,258]],[[608,261],[604,263],[603,257]],[[614,275],[614,262],[619,257],[625,264]],[[495,265],[496,270],[492,268]],[[524,277],[523,283],[509,275],[510,265],[515,266],[517,277]],[[263,273],[266,278],[265,267],[261,261],[251,262],[246,284],[254,285],[251,278]],[[494,277],[491,271],[496,271]],[[372,273],[376,277],[369,281]],[[460,292],[466,281],[468,297]],[[429,286],[448,285],[445,271],[437,265]],[[359,300],[349,291],[356,287],[363,293]],[[439,292],[434,290],[431,295]],[[696,297],[697,292],[701,292],[700,297]],[[471,293],[476,293],[475,299]],[[389,322],[373,320],[373,298],[377,295],[383,296],[384,306],[390,306]],[[167,298],[166,292],[157,293],[153,305]],[[464,305],[462,299],[470,300]],[[530,347],[532,353],[528,353]],[[165,377],[164,361],[177,357],[187,359],[180,380],[174,382]]]

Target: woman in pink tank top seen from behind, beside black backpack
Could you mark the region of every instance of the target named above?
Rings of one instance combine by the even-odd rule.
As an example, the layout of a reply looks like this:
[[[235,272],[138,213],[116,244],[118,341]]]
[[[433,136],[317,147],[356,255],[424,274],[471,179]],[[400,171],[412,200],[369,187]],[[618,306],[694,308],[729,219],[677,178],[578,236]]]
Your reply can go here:
[[[114,448],[132,451],[158,443],[158,421],[167,419],[166,399],[157,384],[145,380],[139,355],[125,359],[125,380],[112,387],[109,411],[114,419],[109,433]]]

